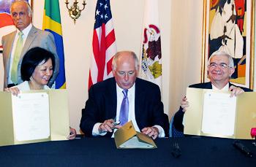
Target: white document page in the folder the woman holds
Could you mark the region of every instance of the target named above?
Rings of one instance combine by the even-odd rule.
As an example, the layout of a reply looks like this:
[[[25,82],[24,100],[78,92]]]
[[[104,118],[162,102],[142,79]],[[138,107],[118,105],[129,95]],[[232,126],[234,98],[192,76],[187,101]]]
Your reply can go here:
[[[17,141],[47,139],[50,136],[47,93],[20,93],[12,96],[12,114]]]

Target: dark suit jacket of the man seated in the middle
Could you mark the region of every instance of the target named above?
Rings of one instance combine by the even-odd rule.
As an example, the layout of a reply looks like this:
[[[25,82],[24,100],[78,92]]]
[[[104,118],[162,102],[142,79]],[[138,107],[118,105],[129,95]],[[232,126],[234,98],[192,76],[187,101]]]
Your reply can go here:
[[[80,128],[86,136],[91,136],[95,123],[116,117],[116,101],[116,80],[113,77],[91,86],[80,120]],[[160,125],[167,131],[159,87],[139,78],[135,81],[135,118],[140,130]]]

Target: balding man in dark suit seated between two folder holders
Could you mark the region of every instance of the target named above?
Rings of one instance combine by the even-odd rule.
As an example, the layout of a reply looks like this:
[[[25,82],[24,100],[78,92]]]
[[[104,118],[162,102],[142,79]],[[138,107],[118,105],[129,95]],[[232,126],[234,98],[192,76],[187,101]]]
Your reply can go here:
[[[82,110],[80,128],[86,136],[112,136],[114,128],[132,120],[136,131],[153,139],[165,137],[165,115],[159,87],[137,78],[139,63],[135,53],[116,53],[113,76],[92,85]],[[121,125],[113,125],[121,121]]]

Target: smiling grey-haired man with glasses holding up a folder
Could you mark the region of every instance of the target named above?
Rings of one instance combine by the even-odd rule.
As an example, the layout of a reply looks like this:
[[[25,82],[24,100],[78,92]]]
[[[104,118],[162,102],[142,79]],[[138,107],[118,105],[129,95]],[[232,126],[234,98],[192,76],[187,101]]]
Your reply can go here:
[[[217,50],[211,54],[208,59],[208,76],[211,82],[189,85],[189,88],[213,89],[213,90],[229,90],[230,97],[238,96],[244,92],[251,92],[248,88],[238,87],[230,83],[230,77],[235,71],[233,58],[224,51]],[[180,109],[174,115],[173,126],[176,130],[183,132],[183,117],[189,106],[186,96],[181,100]]]

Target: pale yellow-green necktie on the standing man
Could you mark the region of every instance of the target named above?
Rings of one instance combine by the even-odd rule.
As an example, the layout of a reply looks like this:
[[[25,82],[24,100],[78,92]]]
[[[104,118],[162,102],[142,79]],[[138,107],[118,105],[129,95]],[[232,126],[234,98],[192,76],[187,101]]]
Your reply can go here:
[[[23,49],[23,33],[20,31],[18,33],[18,41],[15,48],[15,53],[13,55],[13,61],[12,61],[12,71],[11,71],[11,79],[14,84],[18,83],[18,63],[20,61],[20,54]]]

